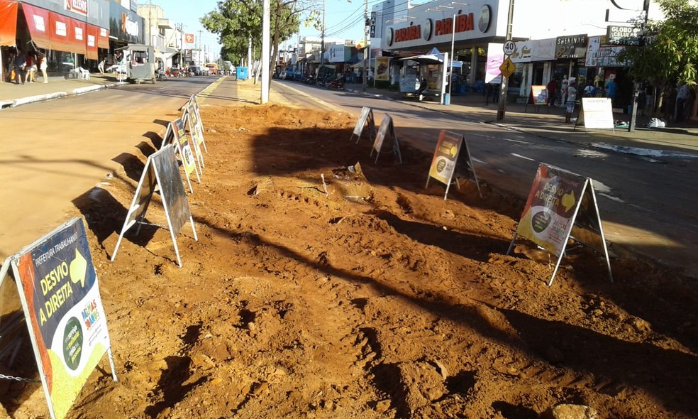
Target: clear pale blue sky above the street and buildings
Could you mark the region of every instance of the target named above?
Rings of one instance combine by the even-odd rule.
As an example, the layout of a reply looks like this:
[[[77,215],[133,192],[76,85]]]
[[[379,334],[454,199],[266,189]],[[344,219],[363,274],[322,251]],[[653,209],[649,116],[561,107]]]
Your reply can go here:
[[[321,0],[317,0],[318,2]],[[382,0],[369,0],[368,11],[370,14],[372,5]],[[360,40],[364,38],[364,9],[365,0],[324,0],[325,2],[325,26],[326,38]],[[139,0],[139,4],[154,4],[165,11],[165,17],[174,23],[184,24],[184,33],[194,33],[196,43],[199,43],[199,31],[201,31],[201,45],[206,45],[207,50],[214,52],[217,57],[221,50],[218,44],[218,36],[204,29],[199,23],[199,18],[218,7],[216,0]],[[306,27],[301,23],[301,38],[304,36],[320,36],[320,31],[312,26]],[[297,43],[297,37],[288,41],[289,44]]]

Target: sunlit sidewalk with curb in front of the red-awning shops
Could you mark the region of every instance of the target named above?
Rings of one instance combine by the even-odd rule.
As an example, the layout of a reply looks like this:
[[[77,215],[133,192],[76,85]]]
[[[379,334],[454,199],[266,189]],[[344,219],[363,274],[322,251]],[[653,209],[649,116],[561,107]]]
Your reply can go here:
[[[13,82],[0,82],[0,109],[18,107],[23,104],[40,102],[70,94],[82,94],[93,90],[104,89],[116,85],[113,75],[91,74],[90,80],[66,80],[64,77],[48,77],[48,83],[43,83],[43,77],[37,77],[39,82],[16,85]]]

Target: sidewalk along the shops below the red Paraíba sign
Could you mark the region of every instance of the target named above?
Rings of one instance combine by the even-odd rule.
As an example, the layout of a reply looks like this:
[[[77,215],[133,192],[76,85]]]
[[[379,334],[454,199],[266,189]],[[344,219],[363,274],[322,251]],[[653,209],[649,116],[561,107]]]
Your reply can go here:
[[[507,103],[504,120],[502,123],[497,123],[498,104],[486,104],[486,97],[482,94],[452,96],[450,105],[442,105],[434,101],[419,102],[417,99],[406,99],[400,92],[387,89],[367,87],[364,91],[361,85],[347,85],[346,91],[411,103],[460,118],[498,124],[556,141],[580,143],[639,156],[698,158],[698,122],[696,121],[683,124],[670,123],[667,124],[668,128],[663,129],[648,129],[643,128],[643,125],[649,118],[641,116],[638,117],[634,132],[628,132],[627,128],[616,129],[615,132],[610,129],[594,129],[585,132],[584,126],[577,126],[575,129],[574,124],[565,124],[564,109],[560,107],[548,108],[533,105],[526,107],[524,104]],[[614,114],[614,120],[629,122],[630,115]]]

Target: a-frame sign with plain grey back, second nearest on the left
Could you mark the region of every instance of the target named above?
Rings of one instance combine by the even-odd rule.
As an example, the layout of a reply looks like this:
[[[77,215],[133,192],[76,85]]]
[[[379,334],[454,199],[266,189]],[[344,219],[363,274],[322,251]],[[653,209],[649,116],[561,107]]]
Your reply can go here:
[[[192,224],[194,240],[199,240],[196,236],[192,213],[189,212],[189,202],[187,202],[187,194],[184,192],[182,175],[179,174],[179,165],[177,165],[177,158],[174,156],[174,148],[167,146],[148,156],[148,160],[145,162],[143,175],[140,176],[138,187],[135,188],[133,201],[126,213],[126,220],[123,222],[123,228],[118,235],[118,241],[116,241],[114,253],[111,255],[111,261],[116,259],[116,252],[119,244],[121,244],[121,239],[123,239],[123,234],[135,224],[139,224],[136,231],[136,234],[138,234],[140,232],[140,224],[148,224],[145,223],[145,212],[148,211],[148,205],[150,205],[150,201],[153,199],[156,186],[160,190],[162,207],[165,209],[165,217],[167,217],[167,225],[170,227],[174,253],[177,254],[177,263],[180,268],[182,267],[182,259],[179,258],[176,236],[187,221]]]

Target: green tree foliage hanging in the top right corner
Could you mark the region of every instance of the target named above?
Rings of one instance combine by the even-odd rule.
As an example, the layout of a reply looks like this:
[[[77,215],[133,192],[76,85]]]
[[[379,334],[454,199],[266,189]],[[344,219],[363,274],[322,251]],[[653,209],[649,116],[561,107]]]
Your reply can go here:
[[[619,60],[631,62],[635,80],[697,82],[698,7],[688,0],[660,0],[665,20],[649,22],[646,45],[625,48]]]

